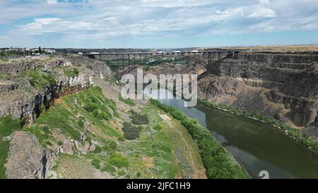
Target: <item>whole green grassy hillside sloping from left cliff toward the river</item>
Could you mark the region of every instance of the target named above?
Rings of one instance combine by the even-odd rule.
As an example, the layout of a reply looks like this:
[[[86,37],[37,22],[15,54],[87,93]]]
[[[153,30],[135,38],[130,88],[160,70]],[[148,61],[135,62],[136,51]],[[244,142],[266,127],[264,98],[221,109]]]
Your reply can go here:
[[[60,98],[23,130],[52,150],[73,144],[73,154],[57,156],[53,170],[60,178],[204,177],[195,173],[204,166],[194,141],[187,137],[192,165],[186,160],[189,151],[177,150],[175,141],[180,144],[182,139],[160,118],[158,107],[141,105],[140,112],[134,112],[117,108],[117,103],[124,102],[114,100],[92,86]],[[186,131],[181,124],[177,129]],[[93,144],[95,149],[83,153],[74,143],[82,148]]]

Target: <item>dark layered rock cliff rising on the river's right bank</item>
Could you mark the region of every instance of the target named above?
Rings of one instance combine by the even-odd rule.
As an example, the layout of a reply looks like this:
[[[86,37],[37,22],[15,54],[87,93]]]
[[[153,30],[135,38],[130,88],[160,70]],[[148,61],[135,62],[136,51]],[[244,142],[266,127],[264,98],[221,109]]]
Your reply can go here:
[[[199,88],[202,98],[298,127],[318,122],[318,54],[237,53],[209,66]]]

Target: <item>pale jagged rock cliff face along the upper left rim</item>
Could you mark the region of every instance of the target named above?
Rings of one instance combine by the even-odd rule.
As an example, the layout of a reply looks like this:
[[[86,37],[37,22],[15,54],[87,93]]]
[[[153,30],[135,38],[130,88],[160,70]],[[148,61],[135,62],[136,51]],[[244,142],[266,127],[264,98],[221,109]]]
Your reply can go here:
[[[41,110],[47,109],[54,103],[54,99],[88,88],[92,74],[85,71],[73,77],[65,76],[62,71],[56,71],[54,83],[43,87],[42,90],[33,88],[27,78],[11,78],[16,76],[16,73],[40,67],[49,71],[59,66],[69,65],[71,65],[70,62],[65,59],[1,64],[1,73],[9,78],[1,81],[0,84],[0,116],[11,114],[13,118],[25,118],[25,122],[34,122]]]

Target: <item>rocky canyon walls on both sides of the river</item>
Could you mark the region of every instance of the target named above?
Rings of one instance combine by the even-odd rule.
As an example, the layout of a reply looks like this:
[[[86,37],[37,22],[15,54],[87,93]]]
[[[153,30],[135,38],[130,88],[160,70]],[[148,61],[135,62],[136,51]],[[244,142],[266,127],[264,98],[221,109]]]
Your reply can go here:
[[[144,74],[201,74],[199,99],[271,117],[318,138],[317,52],[238,52],[207,69],[163,62]],[[16,122],[16,129],[1,133],[8,146],[5,177],[206,178],[199,149],[182,124],[167,124],[167,115],[146,100],[120,98],[120,88],[112,69],[88,57],[1,62],[0,127]],[[140,122],[133,115],[150,121],[131,124]]]

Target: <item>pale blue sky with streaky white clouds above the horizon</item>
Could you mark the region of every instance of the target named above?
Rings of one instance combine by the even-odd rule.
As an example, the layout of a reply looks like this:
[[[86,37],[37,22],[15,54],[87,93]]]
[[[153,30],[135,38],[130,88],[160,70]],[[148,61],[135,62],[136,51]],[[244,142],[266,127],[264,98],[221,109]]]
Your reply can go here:
[[[0,0],[0,47],[318,44],[317,0]]]

